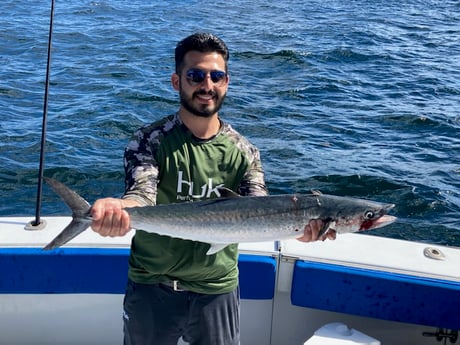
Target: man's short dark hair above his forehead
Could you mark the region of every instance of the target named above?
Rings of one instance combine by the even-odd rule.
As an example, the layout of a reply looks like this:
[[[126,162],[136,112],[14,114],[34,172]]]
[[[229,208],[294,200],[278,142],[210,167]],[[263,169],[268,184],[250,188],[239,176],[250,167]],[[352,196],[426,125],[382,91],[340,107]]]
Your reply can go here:
[[[230,54],[224,41],[213,34],[199,32],[184,38],[177,44],[175,50],[176,73],[179,73],[183,68],[184,56],[191,50],[196,50],[200,53],[219,53],[224,58],[225,71],[227,72],[227,62]]]

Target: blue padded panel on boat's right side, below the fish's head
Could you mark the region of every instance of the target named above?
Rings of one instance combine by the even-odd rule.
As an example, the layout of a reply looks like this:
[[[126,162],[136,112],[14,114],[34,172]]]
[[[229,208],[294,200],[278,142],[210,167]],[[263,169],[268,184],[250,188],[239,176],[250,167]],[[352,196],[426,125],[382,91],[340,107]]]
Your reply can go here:
[[[294,305],[433,327],[460,329],[460,283],[297,261]]]

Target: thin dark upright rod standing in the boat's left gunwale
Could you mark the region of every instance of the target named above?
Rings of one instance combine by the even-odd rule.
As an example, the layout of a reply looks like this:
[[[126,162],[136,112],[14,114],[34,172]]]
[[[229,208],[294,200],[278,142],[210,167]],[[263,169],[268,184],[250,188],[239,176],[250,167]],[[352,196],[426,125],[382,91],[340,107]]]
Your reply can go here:
[[[41,230],[46,227],[46,221],[40,219],[40,209],[42,204],[43,190],[43,170],[45,163],[45,143],[46,143],[46,123],[48,118],[48,94],[49,80],[51,70],[51,42],[53,37],[53,18],[54,18],[54,0],[51,0],[50,11],[50,28],[48,34],[48,57],[46,63],[46,79],[45,79],[45,97],[43,101],[43,116],[42,116],[42,135],[40,141],[40,164],[38,167],[38,184],[37,184],[37,201],[35,204],[35,219],[26,225],[26,230]]]

